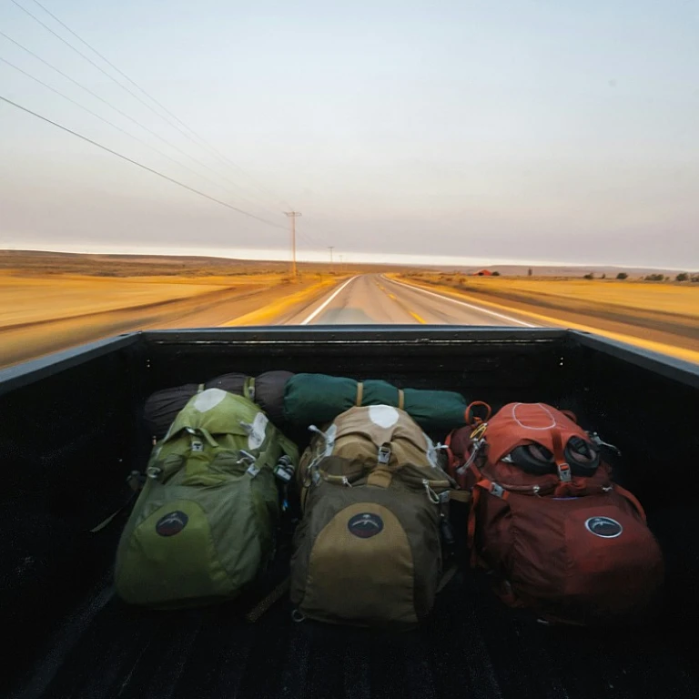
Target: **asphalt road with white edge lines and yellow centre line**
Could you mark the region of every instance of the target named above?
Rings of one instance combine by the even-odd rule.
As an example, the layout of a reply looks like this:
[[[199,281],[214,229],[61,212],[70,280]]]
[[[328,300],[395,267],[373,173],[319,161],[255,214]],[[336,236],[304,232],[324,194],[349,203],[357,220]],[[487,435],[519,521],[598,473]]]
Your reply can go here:
[[[415,289],[378,274],[363,274],[331,289],[306,308],[280,318],[283,325],[498,325],[535,327],[516,313],[499,313]]]

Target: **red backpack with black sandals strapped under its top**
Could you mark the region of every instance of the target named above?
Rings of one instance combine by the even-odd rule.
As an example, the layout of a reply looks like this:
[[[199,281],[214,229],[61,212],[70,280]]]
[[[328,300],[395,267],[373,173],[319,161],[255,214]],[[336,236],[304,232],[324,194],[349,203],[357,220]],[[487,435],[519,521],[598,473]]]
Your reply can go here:
[[[558,623],[636,618],[664,577],[641,503],[613,483],[602,441],[569,412],[510,403],[447,440],[451,476],[472,492],[471,562],[496,593]],[[467,418],[471,410],[467,410]]]

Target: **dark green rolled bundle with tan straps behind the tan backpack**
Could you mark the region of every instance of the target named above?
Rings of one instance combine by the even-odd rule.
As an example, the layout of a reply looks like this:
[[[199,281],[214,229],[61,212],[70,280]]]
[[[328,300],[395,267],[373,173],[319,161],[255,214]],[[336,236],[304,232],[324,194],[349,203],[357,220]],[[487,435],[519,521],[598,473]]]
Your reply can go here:
[[[308,426],[329,422],[355,405],[402,408],[426,431],[450,431],[465,424],[468,403],[451,390],[398,389],[388,381],[356,381],[326,374],[296,374],[284,390],[284,415]]]

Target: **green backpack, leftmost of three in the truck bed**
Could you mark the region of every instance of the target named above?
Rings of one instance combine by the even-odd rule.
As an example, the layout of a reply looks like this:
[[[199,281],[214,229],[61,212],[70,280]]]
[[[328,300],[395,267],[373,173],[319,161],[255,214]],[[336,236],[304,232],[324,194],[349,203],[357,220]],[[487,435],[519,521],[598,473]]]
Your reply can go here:
[[[236,597],[274,555],[275,468],[298,461],[251,400],[199,392],[148,461],[117,550],[117,594],[160,608]]]

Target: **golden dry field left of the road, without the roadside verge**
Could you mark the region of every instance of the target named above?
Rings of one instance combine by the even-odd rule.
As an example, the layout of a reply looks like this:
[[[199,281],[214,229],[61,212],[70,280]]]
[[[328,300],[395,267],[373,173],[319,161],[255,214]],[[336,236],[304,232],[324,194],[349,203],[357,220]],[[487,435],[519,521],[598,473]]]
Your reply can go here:
[[[300,264],[297,283],[345,271]],[[286,262],[0,250],[0,328],[289,284]]]

